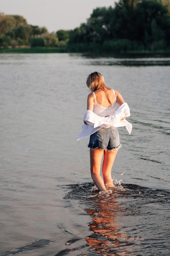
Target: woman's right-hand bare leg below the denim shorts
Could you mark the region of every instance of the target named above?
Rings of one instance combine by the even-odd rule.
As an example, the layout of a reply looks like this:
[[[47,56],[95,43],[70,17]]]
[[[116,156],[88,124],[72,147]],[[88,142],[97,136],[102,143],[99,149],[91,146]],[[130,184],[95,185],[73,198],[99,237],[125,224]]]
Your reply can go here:
[[[112,179],[112,166],[115,161],[115,157],[117,154],[118,148],[115,148],[114,151],[105,151],[104,152],[104,160],[102,166],[102,173],[104,177],[104,184],[107,187],[113,187],[113,179]]]

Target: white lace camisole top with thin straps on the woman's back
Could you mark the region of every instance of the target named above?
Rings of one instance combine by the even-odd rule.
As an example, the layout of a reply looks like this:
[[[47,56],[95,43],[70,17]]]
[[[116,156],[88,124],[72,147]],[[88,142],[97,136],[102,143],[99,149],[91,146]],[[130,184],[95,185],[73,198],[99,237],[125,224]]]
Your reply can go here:
[[[115,90],[113,90],[113,92],[115,95]],[[95,92],[93,92],[93,94],[95,96],[93,112],[96,115],[98,115],[99,117],[108,117],[110,115],[113,115],[116,112],[116,95],[115,95],[115,101],[113,102],[113,104],[108,108],[106,108],[97,102]]]

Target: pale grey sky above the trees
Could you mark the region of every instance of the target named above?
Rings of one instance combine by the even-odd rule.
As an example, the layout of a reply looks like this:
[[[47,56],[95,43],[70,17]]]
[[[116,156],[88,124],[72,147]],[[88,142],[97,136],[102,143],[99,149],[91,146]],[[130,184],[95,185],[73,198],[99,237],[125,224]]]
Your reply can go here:
[[[93,9],[114,7],[115,0],[0,0],[0,13],[23,16],[48,31],[71,30],[86,23]]]

